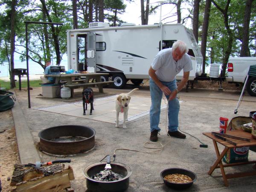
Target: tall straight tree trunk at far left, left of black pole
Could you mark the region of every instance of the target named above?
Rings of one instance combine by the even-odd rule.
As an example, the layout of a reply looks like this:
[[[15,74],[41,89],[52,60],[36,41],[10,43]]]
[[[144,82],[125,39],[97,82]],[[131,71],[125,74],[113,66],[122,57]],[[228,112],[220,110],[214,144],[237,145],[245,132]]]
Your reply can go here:
[[[16,17],[16,5],[17,0],[12,0],[12,14],[11,14],[11,36],[10,36],[10,43],[11,43],[11,50],[10,50],[10,84],[11,89],[16,87],[15,85],[15,76],[13,73],[14,69],[14,52],[15,52],[15,17]]]

